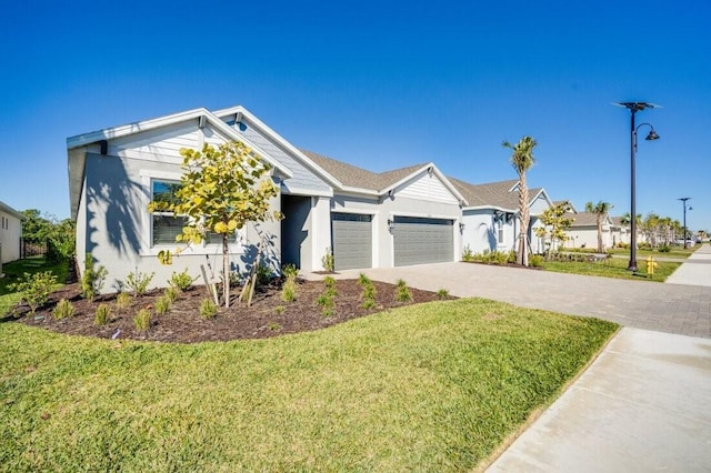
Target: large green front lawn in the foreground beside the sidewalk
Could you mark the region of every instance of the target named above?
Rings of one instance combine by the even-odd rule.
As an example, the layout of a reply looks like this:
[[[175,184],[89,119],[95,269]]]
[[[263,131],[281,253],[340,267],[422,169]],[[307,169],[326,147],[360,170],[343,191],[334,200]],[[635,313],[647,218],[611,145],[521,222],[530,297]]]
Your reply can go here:
[[[0,470],[470,470],[615,330],[475,299],[193,345],[0,323]]]

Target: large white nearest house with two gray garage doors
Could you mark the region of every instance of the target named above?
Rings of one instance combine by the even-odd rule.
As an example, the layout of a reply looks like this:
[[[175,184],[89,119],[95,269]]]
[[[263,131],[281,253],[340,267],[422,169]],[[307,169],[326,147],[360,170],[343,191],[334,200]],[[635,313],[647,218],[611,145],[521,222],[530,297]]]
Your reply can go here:
[[[323,269],[331,251],[336,269],[393,266],[457,261],[461,254],[464,197],[427,163],[373,173],[302,151],[242,107],[216,112],[196,109],[153,120],[71,137],[67,140],[71,215],[77,222],[78,266],[90,254],[107,268],[109,284],[134,271],[152,273],[166,285],[173,271],[219,266],[221,248],[209,239],[160,265],[157,254],[174,249],[183,218],[150,214],[148,203],[181,177],[181,148],[200,149],[242,141],[272,165],[280,188],[273,210],[281,222],[248,225],[230,245],[232,265],[243,272],[261,238],[268,261],[278,269]]]

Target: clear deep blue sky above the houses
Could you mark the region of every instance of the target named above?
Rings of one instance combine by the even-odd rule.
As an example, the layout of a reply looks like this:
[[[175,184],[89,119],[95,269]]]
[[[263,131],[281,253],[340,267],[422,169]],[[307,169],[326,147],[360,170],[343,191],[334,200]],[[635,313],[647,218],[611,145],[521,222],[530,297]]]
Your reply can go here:
[[[66,4],[64,4],[66,3]],[[103,4],[107,3],[107,4]],[[503,140],[535,138],[531,187],[711,230],[705,1],[2,2],[0,201],[70,214],[66,139],[242,104],[293,144],[373,171],[433,161],[514,179]],[[649,129],[640,129],[647,135]]]

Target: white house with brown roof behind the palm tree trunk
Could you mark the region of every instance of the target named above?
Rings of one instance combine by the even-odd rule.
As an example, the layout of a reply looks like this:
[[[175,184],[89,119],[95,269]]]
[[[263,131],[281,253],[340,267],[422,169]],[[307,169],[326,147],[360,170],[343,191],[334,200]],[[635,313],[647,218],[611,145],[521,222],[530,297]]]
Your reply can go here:
[[[517,236],[521,228],[518,179],[485,184],[470,184],[453,178],[450,180],[469,202],[462,209],[463,245],[474,253],[517,250]],[[533,253],[545,250],[534,229],[541,225],[538,217],[551,205],[552,201],[544,189],[529,189],[529,242]]]

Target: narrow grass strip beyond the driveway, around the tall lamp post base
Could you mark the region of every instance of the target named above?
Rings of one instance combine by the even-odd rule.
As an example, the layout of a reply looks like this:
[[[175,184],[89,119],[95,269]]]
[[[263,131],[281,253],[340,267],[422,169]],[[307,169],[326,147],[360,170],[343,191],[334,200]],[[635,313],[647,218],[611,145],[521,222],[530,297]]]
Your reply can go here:
[[[659,253],[658,253],[659,254]],[[604,278],[630,279],[639,281],[664,282],[667,278],[673,273],[681,263],[657,261],[654,274],[647,274],[647,256],[639,255],[637,259],[637,275],[627,270],[629,260],[620,258],[608,258],[599,262],[577,262],[577,261],[544,261],[543,269],[545,271],[554,271],[569,274],[584,274]]]

